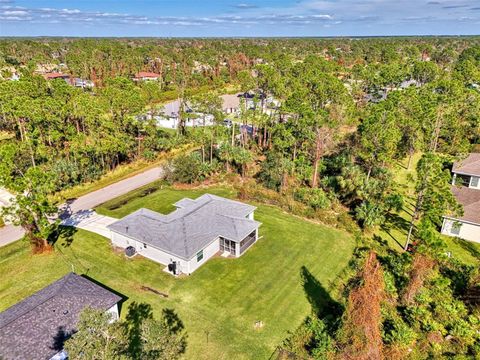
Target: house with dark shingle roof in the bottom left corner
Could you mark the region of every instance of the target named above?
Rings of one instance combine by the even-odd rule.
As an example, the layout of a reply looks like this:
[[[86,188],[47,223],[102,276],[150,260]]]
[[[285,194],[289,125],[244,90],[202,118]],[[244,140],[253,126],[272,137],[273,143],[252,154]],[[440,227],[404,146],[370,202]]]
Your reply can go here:
[[[118,319],[121,297],[69,273],[0,313],[0,359],[66,359],[64,341],[75,332],[80,313],[92,307]]]

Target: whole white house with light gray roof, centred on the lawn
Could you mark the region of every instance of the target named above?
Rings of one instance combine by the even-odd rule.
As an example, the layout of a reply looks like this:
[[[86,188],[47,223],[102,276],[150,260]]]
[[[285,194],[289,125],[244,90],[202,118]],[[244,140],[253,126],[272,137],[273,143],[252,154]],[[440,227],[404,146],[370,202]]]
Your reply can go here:
[[[258,239],[255,207],[205,194],[182,199],[168,215],[140,209],[108,226],[113,245],[191,274],[219,253],[239,257]]]

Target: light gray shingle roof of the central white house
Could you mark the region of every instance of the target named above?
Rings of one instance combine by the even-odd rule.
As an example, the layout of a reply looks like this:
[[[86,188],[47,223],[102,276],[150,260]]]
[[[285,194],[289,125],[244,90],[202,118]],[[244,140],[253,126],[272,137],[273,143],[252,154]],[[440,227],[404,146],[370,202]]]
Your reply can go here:
[[[254,206],[216,195],[185,198],[175,206],[168,215],[140,209],[108,228],[189,260],[218,236],[239,242],[260,226],[246,218]]]

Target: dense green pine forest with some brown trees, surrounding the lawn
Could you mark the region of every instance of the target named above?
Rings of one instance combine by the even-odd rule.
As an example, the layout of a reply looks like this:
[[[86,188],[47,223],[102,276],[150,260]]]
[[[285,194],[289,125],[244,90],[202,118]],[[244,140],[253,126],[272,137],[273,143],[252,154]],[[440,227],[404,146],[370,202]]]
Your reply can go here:
[[[44,68],[95,86],[45,80]],[[0,69],[0,185],[18,194],[4,215],[37,250],[54,231],[52,194],[190,144],[168,181],[230,181],[357,237],[338,298],[279,357],[480,357],[479,268],[446,256],[439,233],[462,213],[451,165],[480,145],[480,38],[4,39]],[[160,77],[134,82],[139,71]],[[235,92],[254,106],[226,126],[218,96]],[[140,120],[177,98],[215,125]],[[376,240],[406,208],[410,252]]]

